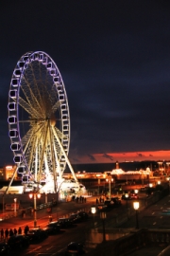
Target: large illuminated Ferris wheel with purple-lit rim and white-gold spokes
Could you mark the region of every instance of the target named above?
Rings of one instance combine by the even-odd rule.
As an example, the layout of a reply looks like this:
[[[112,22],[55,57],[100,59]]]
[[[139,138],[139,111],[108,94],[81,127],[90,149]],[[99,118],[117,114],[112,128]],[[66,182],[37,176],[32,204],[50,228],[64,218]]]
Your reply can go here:
[[[54,182],[68,165],[70,114],[65,86],[45,52],[26,52],[16,64],[8,93],[8,133],[23,183]]]

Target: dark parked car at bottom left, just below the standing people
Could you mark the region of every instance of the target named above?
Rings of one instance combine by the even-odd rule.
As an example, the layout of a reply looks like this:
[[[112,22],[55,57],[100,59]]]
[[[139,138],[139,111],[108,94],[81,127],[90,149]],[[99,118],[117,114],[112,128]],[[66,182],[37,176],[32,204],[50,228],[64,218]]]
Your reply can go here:
[[[18,235],[12,235],[8,238],[8,247],[10,249],[28,247],[29,244],[30,244],[30,241],[28,236],[26,235],[18,234]]]

